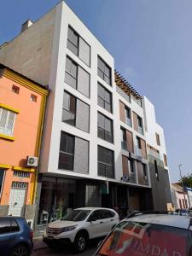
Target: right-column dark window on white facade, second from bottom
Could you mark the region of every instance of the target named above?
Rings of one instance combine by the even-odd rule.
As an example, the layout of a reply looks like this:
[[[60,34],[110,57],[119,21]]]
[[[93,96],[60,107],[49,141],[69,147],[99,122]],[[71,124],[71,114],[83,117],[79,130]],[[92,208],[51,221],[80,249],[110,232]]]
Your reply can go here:
[[[103,140],[113,143],[113,121],[98,113],[97,134]]]

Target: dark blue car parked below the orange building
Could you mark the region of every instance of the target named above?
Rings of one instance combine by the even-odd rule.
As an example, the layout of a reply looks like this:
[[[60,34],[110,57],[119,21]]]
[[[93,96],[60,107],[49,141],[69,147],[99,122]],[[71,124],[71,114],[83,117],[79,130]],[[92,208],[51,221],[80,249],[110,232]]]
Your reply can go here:
[[[29,256],[32,253],[32,230],[25,218],[0,218],[0,255]]]

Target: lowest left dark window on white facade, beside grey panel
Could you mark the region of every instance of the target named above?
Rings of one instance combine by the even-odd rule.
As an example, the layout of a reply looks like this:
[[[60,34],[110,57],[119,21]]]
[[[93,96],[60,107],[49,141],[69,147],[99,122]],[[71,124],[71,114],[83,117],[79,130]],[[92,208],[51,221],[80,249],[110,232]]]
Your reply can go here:
[[[73,171],[74,137],[61,131],[59,169]]]

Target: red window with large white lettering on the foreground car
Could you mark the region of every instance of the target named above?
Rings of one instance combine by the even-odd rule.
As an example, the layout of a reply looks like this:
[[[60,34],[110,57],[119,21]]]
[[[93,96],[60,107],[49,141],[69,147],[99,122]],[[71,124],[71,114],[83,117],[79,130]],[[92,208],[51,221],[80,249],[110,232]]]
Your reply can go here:
[[[174,227],[121,222],[96,256],[191,256],[191,231]]]

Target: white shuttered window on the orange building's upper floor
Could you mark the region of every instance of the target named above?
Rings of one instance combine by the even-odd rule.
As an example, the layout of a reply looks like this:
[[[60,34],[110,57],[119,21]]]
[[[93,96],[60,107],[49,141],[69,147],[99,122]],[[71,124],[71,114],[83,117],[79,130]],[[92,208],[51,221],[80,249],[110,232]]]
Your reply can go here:
[[[10,137],[14,135],[15,116],[16,113],[0,108],[0,134]]]

